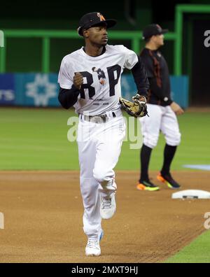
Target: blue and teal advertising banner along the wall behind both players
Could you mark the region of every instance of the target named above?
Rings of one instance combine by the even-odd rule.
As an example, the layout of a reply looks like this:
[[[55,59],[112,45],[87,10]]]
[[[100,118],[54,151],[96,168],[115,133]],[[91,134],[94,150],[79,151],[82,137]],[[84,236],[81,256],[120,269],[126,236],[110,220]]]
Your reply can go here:
[[[171,76],[172,99],[181,107],[188,107],[188,76]],[[132,99],[137,87],[132,74],[121,78],[122,96]],[[59,85],[57,74],[16,73],[0,74],[0,105],[56,107]]]

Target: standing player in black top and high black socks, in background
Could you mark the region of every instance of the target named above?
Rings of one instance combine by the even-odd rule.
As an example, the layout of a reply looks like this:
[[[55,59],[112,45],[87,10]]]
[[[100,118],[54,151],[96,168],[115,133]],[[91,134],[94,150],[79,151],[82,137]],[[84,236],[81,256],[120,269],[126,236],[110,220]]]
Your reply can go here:
[[[169,70],[165,58],[159,48],[164,45],[163,30],[158,24],[148,25],[143,32],[146,47],[141,52],[150,90],[148,91],[147,107],[149,117],[141,118],[144,144],[141,148],[141,176],[137,185],[138,190],[159,190],[148,177],[148,165],[151,152],[158,143],[160,131],[165,136],[166,145],[164,150],[164,162],[157,178],[162,183],[173,189],[180,187],[170,173],[172,159],[177,145],[181,140],[179,125],[176,115],[181,115],[183,109],[171,99]]]

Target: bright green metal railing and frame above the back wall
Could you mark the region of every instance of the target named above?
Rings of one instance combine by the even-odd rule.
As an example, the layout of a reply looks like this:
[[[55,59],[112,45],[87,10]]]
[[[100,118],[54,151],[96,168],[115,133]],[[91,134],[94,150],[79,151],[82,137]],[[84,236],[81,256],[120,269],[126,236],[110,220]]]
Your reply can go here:
[[[210,5],[177,5],[175,12],[175,31],[165,35],[166,40],[174,41],[174,75],[182,74],[182,42],[183,42],[183,14],[210,13]],[[51,38],[78,38],[76,31],[51,30],[3,30],[3,47],[0,47],[0,73],[6,72],[6,49],[8,38],[41,38],[41,72],[50,72],[50,39]],[[132,50],[139,52],[142,32],[139,31],[109,31],[109,38],[130,40]]]

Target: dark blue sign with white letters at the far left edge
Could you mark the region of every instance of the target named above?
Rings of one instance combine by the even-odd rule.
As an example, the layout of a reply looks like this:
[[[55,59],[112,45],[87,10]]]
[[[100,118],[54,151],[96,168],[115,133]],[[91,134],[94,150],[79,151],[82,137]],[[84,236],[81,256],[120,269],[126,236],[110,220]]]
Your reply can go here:
[[[15,104],[14,74],[0,74],[0,106]]]

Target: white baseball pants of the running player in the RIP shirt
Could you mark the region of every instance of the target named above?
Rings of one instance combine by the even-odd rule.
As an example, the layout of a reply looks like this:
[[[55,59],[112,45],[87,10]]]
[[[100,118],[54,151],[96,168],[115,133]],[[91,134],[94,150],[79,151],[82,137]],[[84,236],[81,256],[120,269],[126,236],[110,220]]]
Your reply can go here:
[[[125,122],[120,116],[94,123],[80,119],[78,155],[80,191],[83,197],[83,229],[87,236],[101,232],[100,195],[116,192],[114,167],[125,136]]]

